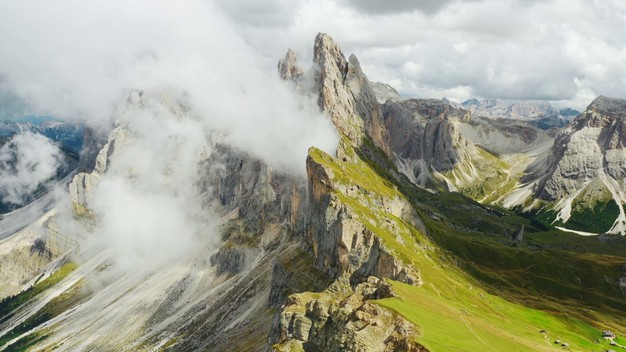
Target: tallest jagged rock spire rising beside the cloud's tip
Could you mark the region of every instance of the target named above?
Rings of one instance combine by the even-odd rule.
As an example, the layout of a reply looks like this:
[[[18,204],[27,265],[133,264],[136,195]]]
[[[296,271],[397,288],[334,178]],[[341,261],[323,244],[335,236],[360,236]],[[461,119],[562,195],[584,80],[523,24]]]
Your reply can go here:
[[[319,67],[315,73],[315,90],[319,92],[321,110],[354,145],[361,147],[369,136],[377,148],[391,157],[391,143],[379,103],[356,56],[351,55],[346,61],[335,41],[328,34],[319,33],[313,61]],[[341,147],[337,153],[346,157]]]

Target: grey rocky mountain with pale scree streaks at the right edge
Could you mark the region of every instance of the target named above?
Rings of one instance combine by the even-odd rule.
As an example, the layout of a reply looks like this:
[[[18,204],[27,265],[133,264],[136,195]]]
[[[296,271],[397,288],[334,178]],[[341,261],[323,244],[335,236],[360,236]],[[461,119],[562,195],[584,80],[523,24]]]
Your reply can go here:
[[[578,195],[592,206],[609,194],[624,204],[626,187],[626,100],[600,96],[560,133],[544,166],[545,177],[536,190],[540,199],[557,202],[558,219],[570,217]],[[598,191],[588,192],[590,185]],[[604,190],[603,190],[604,189]],[[593,196],[593,193],[598,196]],[[620,215],[610,232],[624,232],[626,217]]]

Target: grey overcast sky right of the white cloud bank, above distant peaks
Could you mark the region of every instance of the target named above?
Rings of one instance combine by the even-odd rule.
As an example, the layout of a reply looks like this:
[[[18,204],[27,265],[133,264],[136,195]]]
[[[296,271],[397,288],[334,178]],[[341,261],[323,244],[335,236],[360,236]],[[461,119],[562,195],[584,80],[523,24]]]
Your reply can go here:
[[[308,65],[318,32],[403,96],[626,98],[623,0],[218,0],[268,66],[288,47]]]

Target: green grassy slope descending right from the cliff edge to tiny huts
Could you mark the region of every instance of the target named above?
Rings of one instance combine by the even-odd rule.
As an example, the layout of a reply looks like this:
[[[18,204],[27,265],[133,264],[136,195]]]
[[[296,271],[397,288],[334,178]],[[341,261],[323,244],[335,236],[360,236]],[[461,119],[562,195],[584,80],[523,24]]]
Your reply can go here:
[[[399,298],[376,303],[419,326],[416,339],[429,351],[547,351],[560,348],[554,339],[573,351],[602,351],[602,344],[592,343],[599,331],[626,332],[626,297],[618,284],[626,275],[626,246],[597,242],[590,253],[564,251],[534,235],[516,243],[508,234],[521,225],[541,234],[542,224],[458,193],[431,194],[395,179],[358,151],[356,163],[316,154],[336,180],[366,193],[401,194],[423,221],[418,230],[340,197],[399,259],[421,271],[421,287],[394,282]],[[401,241],[376,225],[385,219],[393,220]]]

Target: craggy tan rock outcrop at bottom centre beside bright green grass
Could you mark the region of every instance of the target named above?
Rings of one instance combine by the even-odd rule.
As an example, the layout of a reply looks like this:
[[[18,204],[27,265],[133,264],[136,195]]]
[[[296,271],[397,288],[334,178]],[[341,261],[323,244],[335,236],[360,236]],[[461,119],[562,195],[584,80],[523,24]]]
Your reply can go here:
[[[426,351],[414,341],[413,324],[367,302],[393,296],[390,285],[376,277],[352,289],[345,276],[316,298],[309,292],[293,294],[280,316],[279,343],[272,351]]]

